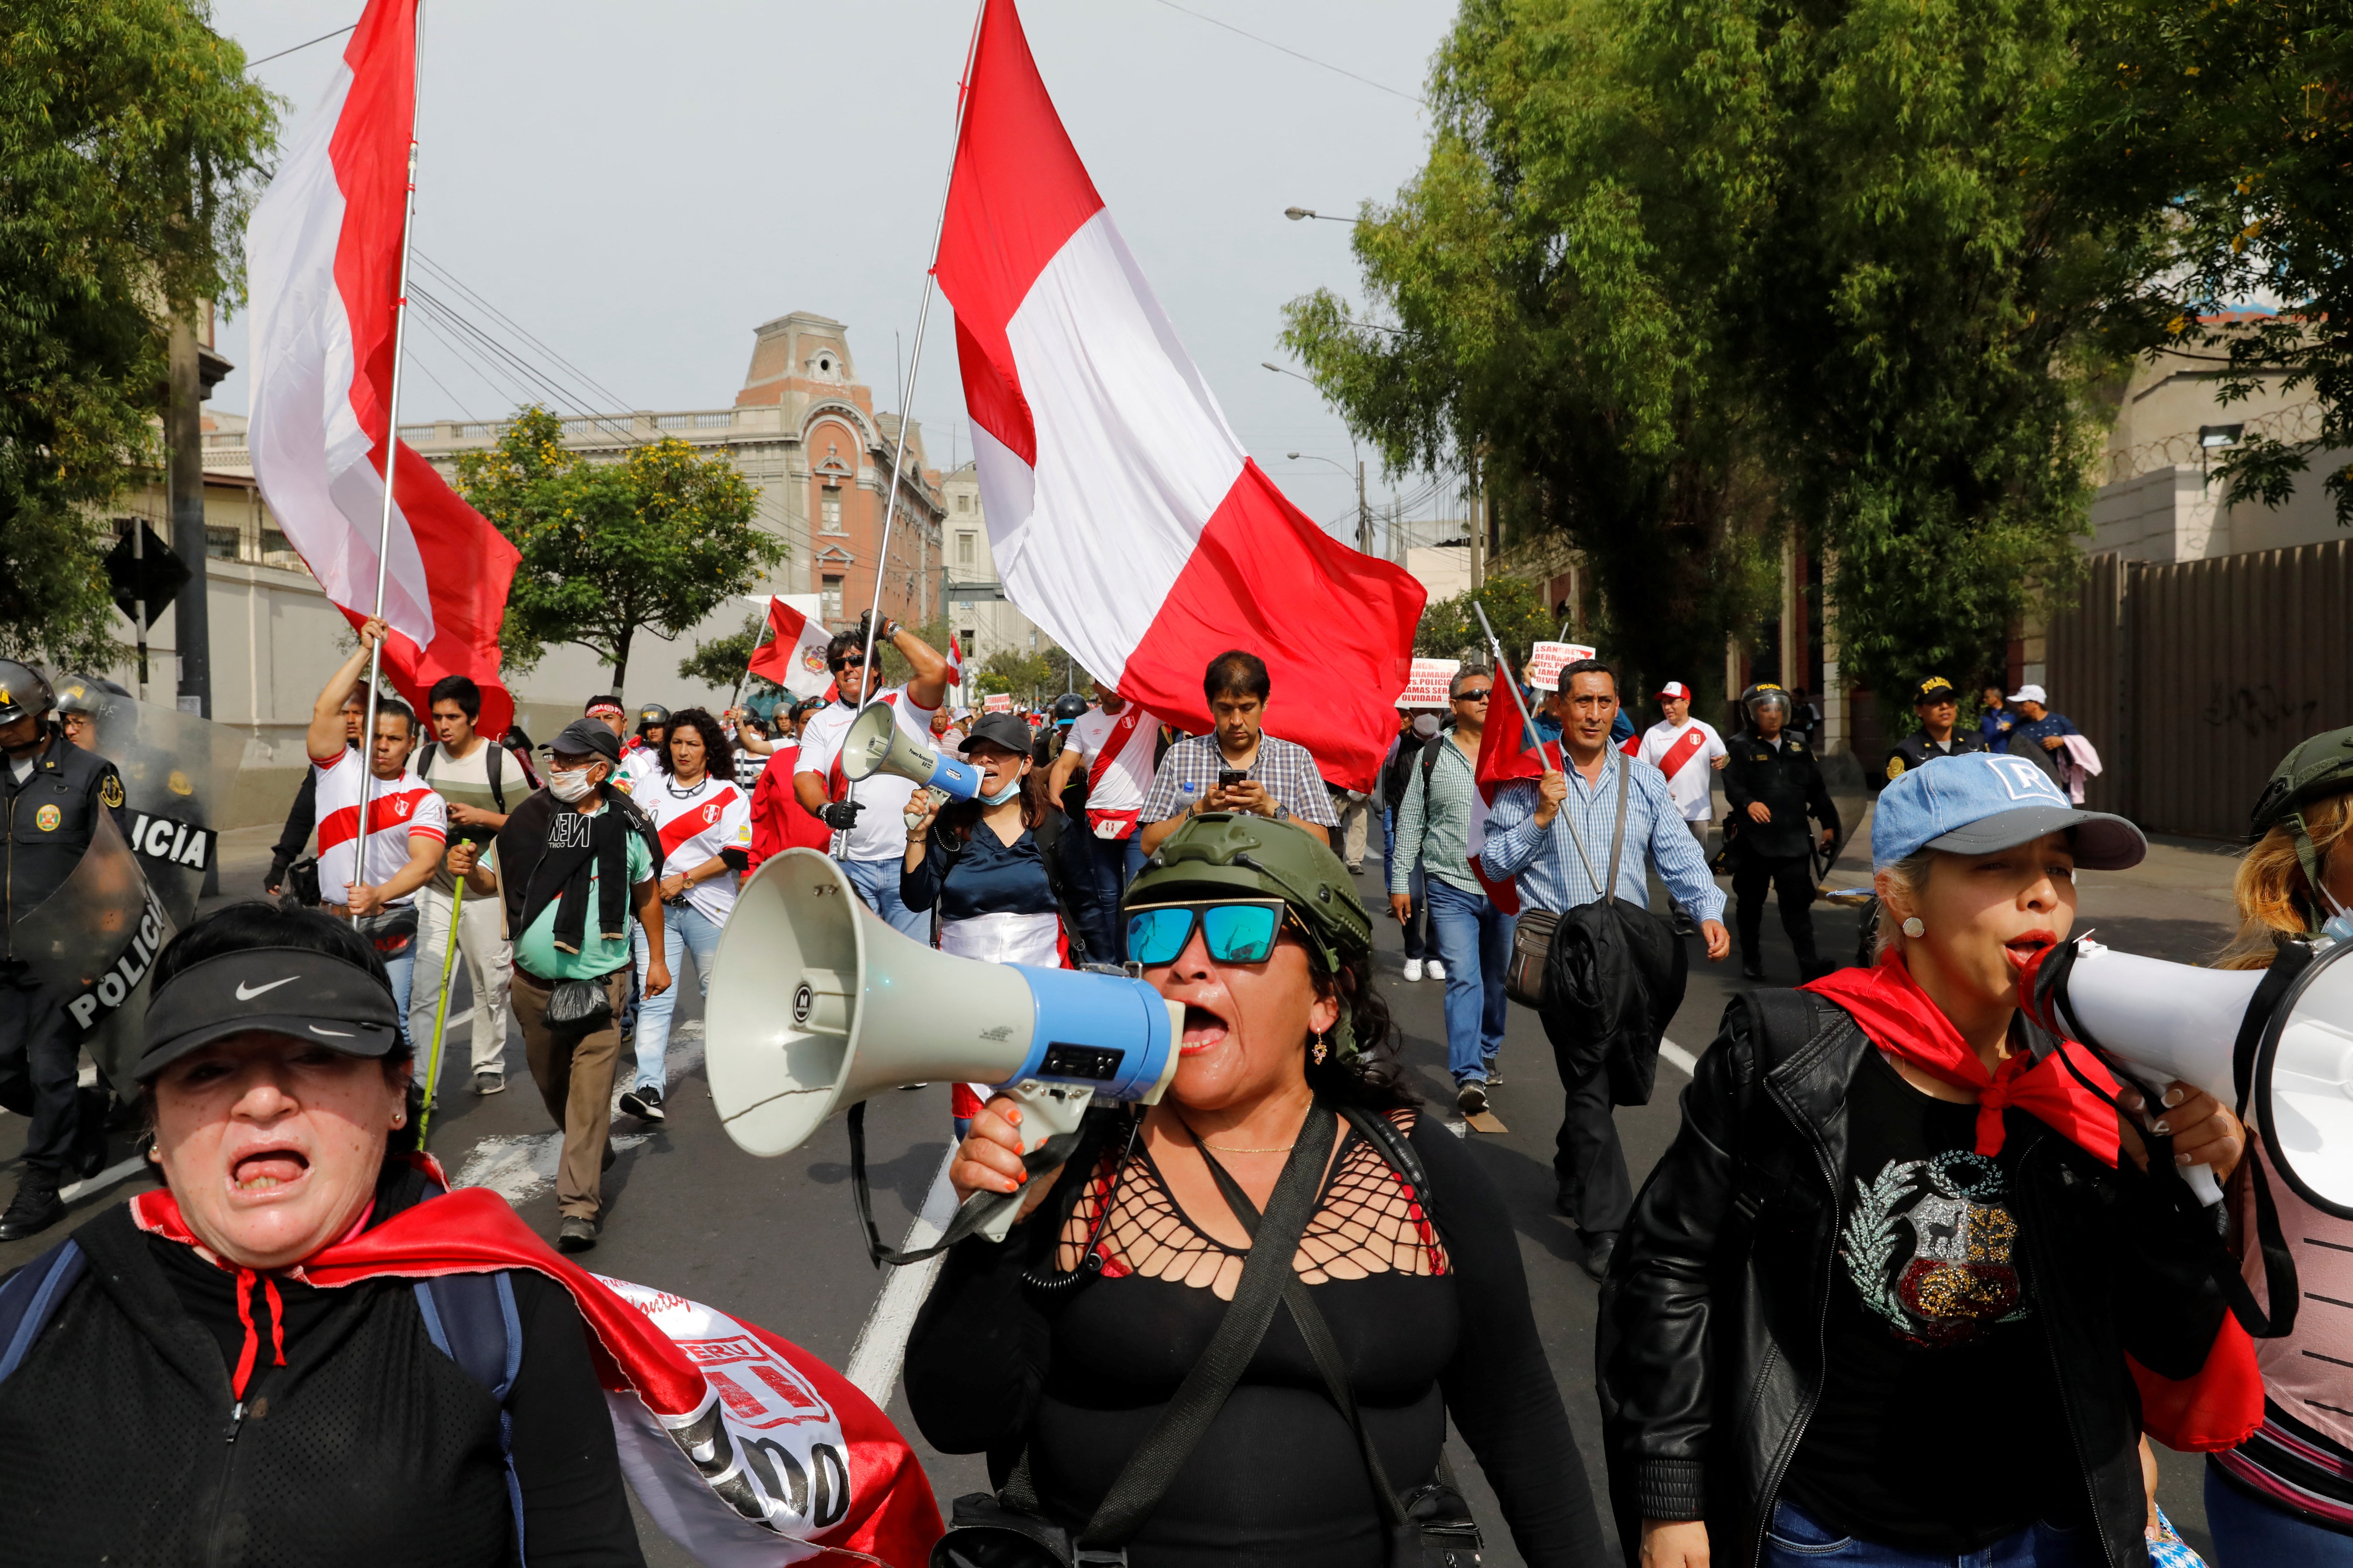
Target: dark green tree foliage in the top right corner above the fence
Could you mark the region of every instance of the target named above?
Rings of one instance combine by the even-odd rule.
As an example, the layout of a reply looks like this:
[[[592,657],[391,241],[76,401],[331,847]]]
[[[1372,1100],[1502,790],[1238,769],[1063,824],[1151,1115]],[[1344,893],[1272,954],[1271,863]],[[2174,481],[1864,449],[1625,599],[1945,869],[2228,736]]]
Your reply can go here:
[[[2214,475],[2280,505],[2322,451],[2353,524],[2353,12],[2344,0],[2099,0],[2059,94],[2071,197],[2162,214],[2162,263],[2125,308],[2214,362],[2226,402],[2308,390],[2299,430],[2247,430]],[[2247,315],[2249,303],[2278,313]],[[2235,320],[2231,320],[2235,315]]]

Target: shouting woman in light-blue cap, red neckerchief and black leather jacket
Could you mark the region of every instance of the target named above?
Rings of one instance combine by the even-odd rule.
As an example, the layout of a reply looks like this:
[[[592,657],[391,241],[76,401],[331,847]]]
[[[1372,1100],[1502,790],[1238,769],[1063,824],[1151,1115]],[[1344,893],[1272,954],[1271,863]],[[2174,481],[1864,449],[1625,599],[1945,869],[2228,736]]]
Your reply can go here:
[[[2144,853],[2033,762],[1939,757],[1878,799],[1880,961],[1727,1009],[1602,1291],[1645,1563],[2146,1561],[2127,1352],[2193,1378],[2226,1305],[2125,1112],[2217,1173],[2242,1133],[2186,1084],[2144,1110],[2017,1009],[2075,867]]]

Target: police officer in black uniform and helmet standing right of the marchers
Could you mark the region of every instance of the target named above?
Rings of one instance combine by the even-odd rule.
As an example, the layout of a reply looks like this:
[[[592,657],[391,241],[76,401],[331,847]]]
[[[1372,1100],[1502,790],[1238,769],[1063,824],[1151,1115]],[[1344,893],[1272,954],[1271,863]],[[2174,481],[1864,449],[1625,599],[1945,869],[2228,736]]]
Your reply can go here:
[[[1748,724],[1727,743],[1725,802],[1732,811],[1732,896],[1739,900],[1741,973],[1765,978],[1758,931],[1765,926],[1765,889],[1781,900],[1781,929],[1798,950],[1798,969],[1812,980],[1826,966],[1814,952],[1814,856],[1805,818],[1821,823],[1821,846],[1838,842],[1838,806],[1821,783],[1814,748],[1788,731],[1791,698],[1762,684],[1741,693]]]

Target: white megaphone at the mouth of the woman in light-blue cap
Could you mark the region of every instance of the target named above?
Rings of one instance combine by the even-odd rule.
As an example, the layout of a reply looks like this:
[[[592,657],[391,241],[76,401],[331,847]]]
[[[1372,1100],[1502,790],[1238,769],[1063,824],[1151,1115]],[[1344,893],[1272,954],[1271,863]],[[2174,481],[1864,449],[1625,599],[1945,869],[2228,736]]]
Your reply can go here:
[[[2348,952],[2353,943],[2313,943],[2285,947],[2271,971],[2195,969],[2078,938],[2028,964],[2019,990],[2042,1027],[2118,1060],[2151,1088],[2181,1079],[2245,1105],[2282,1180],[2315,1208],[2353,1220]],[[2212,1171],[2186,1175],[2207,1204],[2221,1201]]]

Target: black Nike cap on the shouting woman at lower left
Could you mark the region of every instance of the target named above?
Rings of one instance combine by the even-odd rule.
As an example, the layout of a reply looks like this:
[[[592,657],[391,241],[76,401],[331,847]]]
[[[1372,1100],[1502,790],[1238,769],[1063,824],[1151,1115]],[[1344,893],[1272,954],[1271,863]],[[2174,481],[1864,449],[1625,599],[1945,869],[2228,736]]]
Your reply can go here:
[[[224,952],[179,971],[148,1001],[148,1046],[134,1077],[151,1079],[247,1030],[381,1058],[400,1041],[400,1011],[384,980],[315,947]]]

